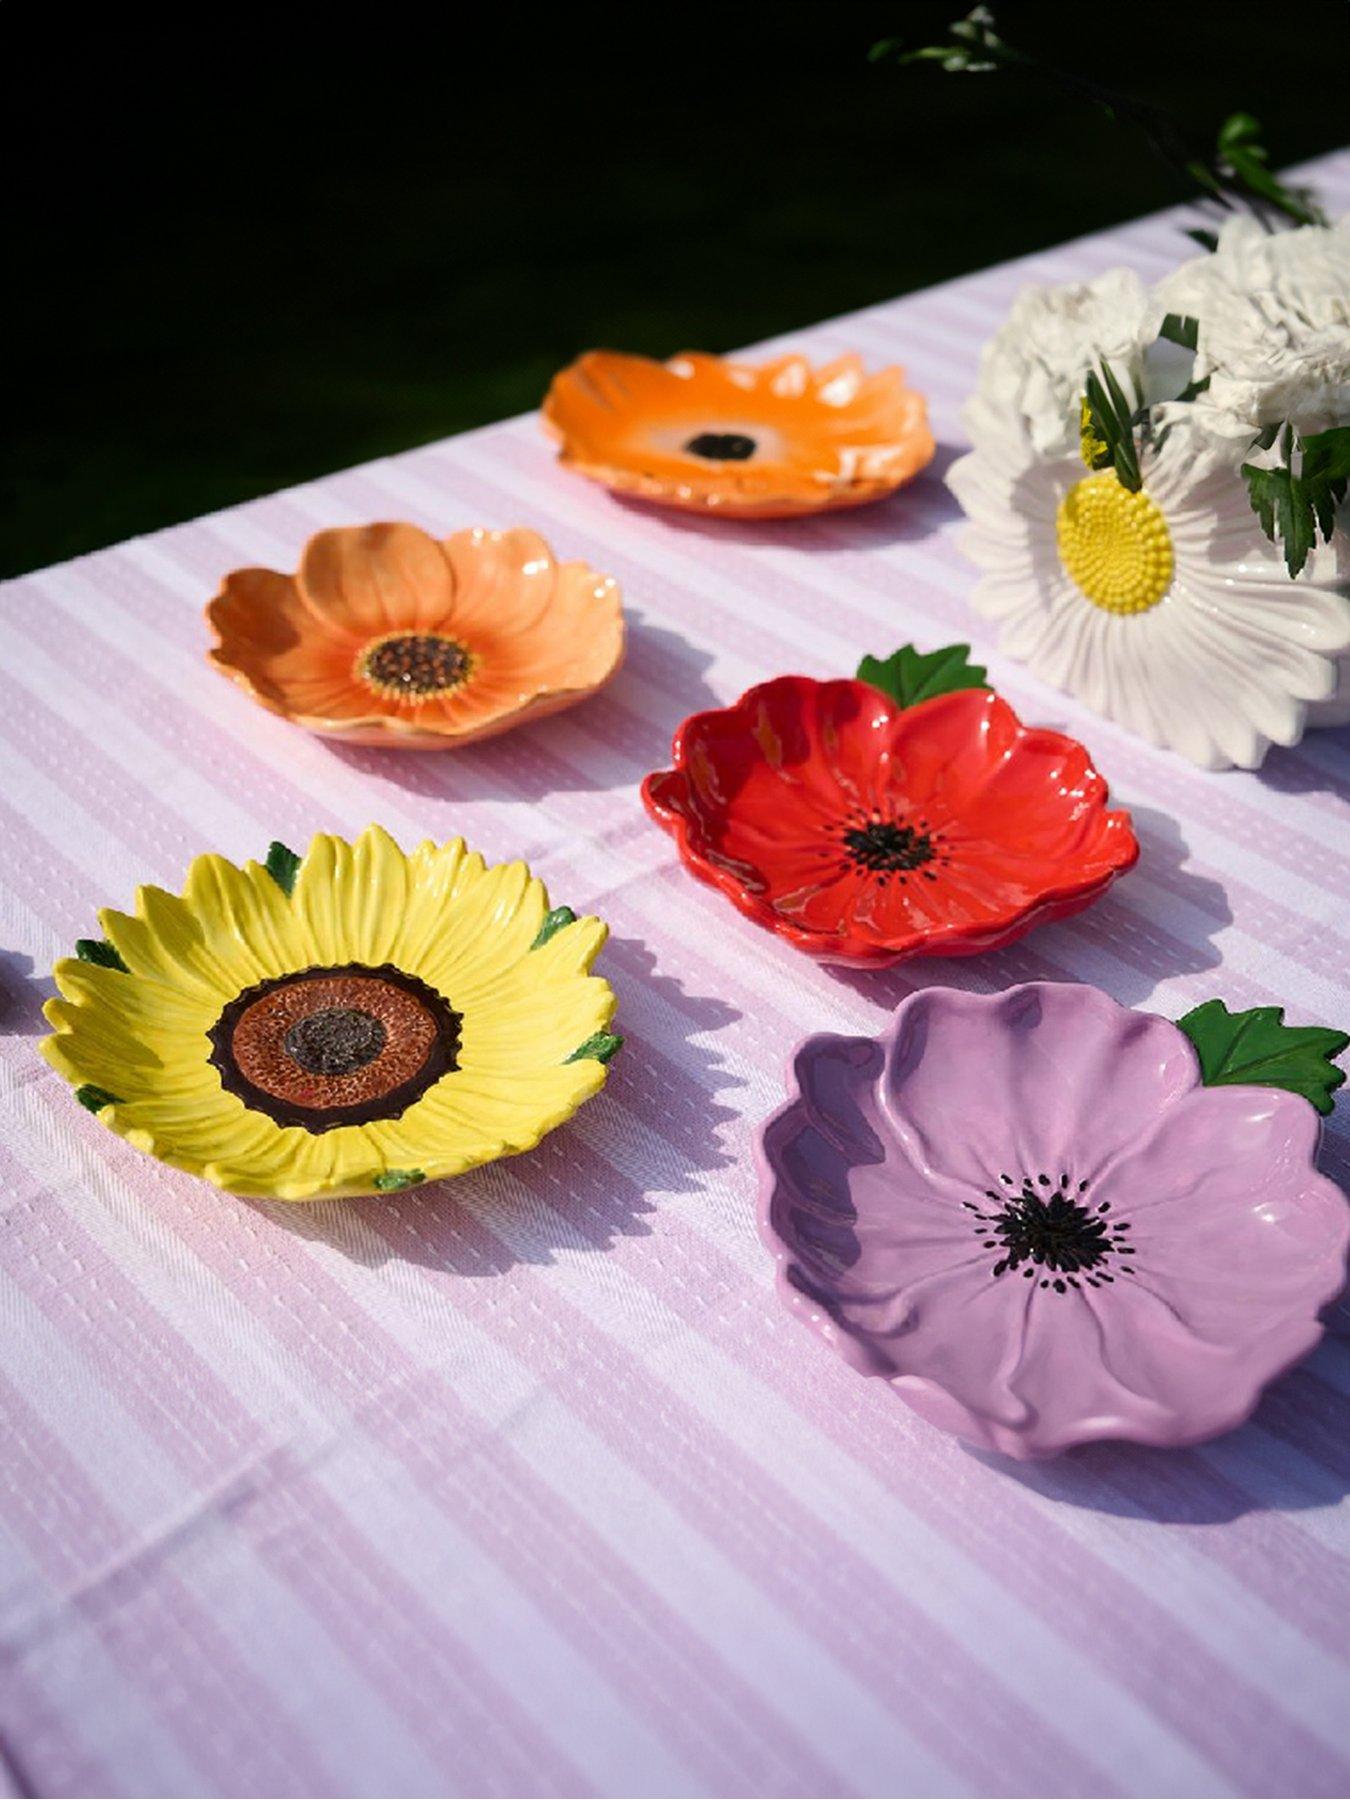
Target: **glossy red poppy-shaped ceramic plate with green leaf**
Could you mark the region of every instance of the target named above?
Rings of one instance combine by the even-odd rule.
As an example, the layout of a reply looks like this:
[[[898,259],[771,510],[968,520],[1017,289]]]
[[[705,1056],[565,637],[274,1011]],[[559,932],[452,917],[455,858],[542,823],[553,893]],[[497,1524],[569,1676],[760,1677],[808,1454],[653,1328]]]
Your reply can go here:
[[[967,646],[783,675],[675,734],[643,799],[693,875],[826,963],[968,956],[1091,905],[1139,846],[1087,751]]]

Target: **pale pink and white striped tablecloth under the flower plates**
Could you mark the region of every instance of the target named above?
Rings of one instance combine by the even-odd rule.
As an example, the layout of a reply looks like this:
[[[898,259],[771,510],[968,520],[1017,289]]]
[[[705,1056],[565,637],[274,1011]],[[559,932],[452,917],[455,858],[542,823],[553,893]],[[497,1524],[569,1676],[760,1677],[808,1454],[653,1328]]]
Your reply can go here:
[[[1350,155],[1314,169],[1350,200]],[[1346,736],[1202,774],[990,652],[938,473],[1026,279],[1188,254],[1154,218],[785,340],[898,360],[938,468],[893,504],[698,522],[515,419],[4,590],[0,1741],[16,1793],[1337,1795],[1350,1786],[1350,1343],[1204,1449],[1013,1469],[772,1298],[751,1134],[812,1028],[916,985],[1091,981],[1350,1019]],[[448,346],[448,355],[454,346]],[[594,704],[461,754],[326,749],[203,661],[241,563],[371,518],[540,527],[623,583]],[[815,968],[679,868],[637,799],[767,675],[972,637],[1094,749],[1143,841],[995,956]],[[524,855],[612,925],[628,1035],[533,1156],[378,1202],[256,1206],[139,1157],[36,1055],[95,907],[371,819]],[[1346,1166],[1346,1103],[1328,1166]]]

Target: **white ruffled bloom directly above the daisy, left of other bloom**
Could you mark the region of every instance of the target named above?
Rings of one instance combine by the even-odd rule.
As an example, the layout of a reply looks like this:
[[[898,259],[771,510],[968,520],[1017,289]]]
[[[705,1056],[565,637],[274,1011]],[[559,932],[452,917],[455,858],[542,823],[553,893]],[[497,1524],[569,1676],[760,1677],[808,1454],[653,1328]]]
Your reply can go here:
[[[1028,286],[985,346],[963,419],[974,443],[1015,425],[1040,455],[1078,448],[1087,371],[1109,362],[1127,394],[1143,394],[1145,351],[1161,310],[1130,268],[1060,288]]]

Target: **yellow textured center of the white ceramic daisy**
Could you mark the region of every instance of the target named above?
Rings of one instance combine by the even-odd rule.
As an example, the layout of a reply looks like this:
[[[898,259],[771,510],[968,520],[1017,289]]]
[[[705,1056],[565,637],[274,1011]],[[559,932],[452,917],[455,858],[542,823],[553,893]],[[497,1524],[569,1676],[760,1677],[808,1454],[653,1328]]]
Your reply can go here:
[[[1121,488],[1116,472],[1085,475],[1055,518],[1060,562],[1105,612],[1148,612],[1172,585],[1172,536],[1156,500]]]

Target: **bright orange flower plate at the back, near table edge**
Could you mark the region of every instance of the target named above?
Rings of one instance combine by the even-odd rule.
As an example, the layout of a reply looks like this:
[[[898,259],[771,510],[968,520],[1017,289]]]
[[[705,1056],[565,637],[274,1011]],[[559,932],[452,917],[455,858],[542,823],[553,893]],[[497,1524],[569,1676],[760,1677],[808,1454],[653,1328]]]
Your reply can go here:
[[[812,369],[589,351],[554,376],[544,425],[563,464],[607,488],[736,518],[860,506],[932,461],[923,396],[857,356]]]

